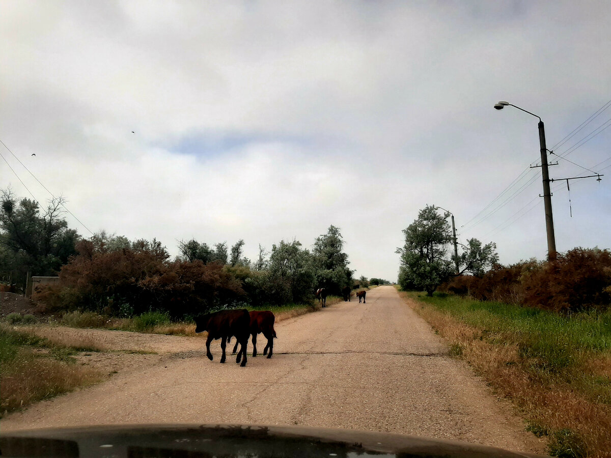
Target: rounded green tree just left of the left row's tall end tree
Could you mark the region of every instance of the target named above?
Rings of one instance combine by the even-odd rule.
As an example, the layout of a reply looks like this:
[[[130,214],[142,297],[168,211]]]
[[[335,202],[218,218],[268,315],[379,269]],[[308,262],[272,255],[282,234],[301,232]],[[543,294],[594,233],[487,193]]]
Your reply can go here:
[[[280,241],[269,257],[269,291],[277,305],[307,304],[312,301],[312,255],[301,243]]]

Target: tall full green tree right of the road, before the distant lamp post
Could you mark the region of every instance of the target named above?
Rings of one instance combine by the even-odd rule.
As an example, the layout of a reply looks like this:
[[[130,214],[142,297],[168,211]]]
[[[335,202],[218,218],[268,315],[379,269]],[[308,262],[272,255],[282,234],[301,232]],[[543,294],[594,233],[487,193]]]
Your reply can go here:
[[[452,261],[447,258],[447,244],[452,241],[448,216],[450,213],[441,216],[434,205],[427,205],[403,230],[405,244],[397,249],[401,255],[401,288],[417,288],[433,296],[437,286],[452,275]]]

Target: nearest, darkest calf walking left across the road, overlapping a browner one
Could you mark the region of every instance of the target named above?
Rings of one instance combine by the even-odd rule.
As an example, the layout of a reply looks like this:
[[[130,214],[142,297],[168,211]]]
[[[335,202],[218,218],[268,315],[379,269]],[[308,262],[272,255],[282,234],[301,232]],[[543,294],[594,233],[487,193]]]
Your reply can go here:
[[[242,310],[221,310],[214,313],[207,313],[197,316],[195,322],[195,332],[208,331],[206,355],[210,361],[212,361],[210,342],[213,339],[221,339],[221,349],[223,351],[221,363],[224,363],[227,338],[235,335],[236,340],[241,345],[240,352],[238,352],[235,362],[239,363],[242,357],[244,357],[240,366],[246,366],[246,347],[248,345],[248,336],[251,335],[251,316],[248,310],[243,308]]]

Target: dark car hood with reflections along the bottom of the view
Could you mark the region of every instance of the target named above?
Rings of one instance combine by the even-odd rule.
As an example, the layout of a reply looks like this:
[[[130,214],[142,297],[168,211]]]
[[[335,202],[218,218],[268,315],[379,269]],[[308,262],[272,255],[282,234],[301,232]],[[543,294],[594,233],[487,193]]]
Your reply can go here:
[[[11,457],[536,457],[466,442],[401,434],[246,424],[122,425],[0,434]]]

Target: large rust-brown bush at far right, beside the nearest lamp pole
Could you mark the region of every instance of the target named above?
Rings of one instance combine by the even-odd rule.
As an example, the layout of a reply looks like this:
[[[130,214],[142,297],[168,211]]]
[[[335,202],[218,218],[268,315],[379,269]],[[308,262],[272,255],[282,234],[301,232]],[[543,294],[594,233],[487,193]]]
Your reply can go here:
[[[524,275],[524,304],[557,312],[605,310],[611,303],[611,253],[575,248]]]

